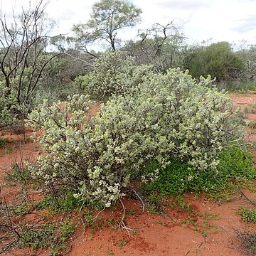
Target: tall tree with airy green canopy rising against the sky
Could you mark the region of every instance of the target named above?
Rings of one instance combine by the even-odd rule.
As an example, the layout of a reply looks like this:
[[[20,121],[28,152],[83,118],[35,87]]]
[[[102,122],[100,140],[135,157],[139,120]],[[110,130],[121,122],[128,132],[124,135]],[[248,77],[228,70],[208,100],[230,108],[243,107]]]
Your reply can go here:
[[[118,31],[135,26],[141,13],[141,9],[127,0],[101,0],[92,6],[89,21],[74,27],[78,43],[87,52],[87,46],[95,41],[107,43],[116,50]]]

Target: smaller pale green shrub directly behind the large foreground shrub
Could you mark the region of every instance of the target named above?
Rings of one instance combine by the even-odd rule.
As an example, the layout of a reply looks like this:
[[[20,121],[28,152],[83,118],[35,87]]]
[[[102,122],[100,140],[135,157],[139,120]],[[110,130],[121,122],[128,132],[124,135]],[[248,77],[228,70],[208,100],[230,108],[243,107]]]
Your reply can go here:
[[[134,58],[121,51],[100,55],[94,66],[95,71],[80,75],[75,79],[75,85],[97,100],[131,93],[152,69],[151,65],[134,65]]]

